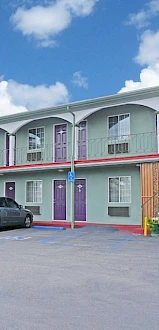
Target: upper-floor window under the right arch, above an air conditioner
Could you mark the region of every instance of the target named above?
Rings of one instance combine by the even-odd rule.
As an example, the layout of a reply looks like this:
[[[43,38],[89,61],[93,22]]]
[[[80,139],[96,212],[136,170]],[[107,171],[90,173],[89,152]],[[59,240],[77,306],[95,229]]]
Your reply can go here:
[[[130,135],[130,115],[108,117],[109,139],[124,138]]]

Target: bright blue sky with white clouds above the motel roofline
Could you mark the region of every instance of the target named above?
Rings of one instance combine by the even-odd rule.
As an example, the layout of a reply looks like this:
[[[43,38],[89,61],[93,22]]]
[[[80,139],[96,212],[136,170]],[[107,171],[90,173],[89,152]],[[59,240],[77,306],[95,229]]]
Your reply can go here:
[[[1,0],[0,115],[159,84],[159,0]]]

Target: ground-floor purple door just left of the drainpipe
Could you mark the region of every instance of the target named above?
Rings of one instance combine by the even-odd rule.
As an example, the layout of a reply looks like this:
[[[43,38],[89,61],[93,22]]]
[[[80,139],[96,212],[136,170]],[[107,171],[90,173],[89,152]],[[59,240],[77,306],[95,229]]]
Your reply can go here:
[[[66,180],[54,181],[54,220],[66,220]]]

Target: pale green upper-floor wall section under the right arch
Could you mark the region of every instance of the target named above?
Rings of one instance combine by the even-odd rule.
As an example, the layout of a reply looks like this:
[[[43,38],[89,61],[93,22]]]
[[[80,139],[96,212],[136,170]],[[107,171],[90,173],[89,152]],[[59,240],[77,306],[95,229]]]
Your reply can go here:
[[[108,141],[108,117],[130,114],[130,138]],[[114,157],[108,144],[129,144],[129,153],[117,157],[157,152],[156,119],[152,109],[139,105],[123,105],[99,110],[87,118],[88,158]]]

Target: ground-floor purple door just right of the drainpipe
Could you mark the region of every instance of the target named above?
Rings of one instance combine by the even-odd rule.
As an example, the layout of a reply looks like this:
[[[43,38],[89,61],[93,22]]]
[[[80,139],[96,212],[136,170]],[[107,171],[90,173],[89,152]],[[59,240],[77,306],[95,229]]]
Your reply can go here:
[[[86,221],[86,179],[75,180],[75,220]]]

